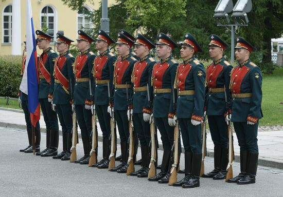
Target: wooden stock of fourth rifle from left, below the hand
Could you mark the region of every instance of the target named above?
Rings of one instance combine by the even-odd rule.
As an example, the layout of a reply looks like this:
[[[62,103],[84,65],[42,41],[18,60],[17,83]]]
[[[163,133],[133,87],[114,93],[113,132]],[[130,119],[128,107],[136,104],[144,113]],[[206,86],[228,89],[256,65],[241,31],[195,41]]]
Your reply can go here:
[[[134,129],[133,129],[132,119],[129,121],[129,129],[130,129],[130,142],[129,142],[129,159],[128,159],[127,175],[131,175],[131,173],[135,171],[135,166],[133,162],[135,147],[134,147],[134,133],[133,133]]]

